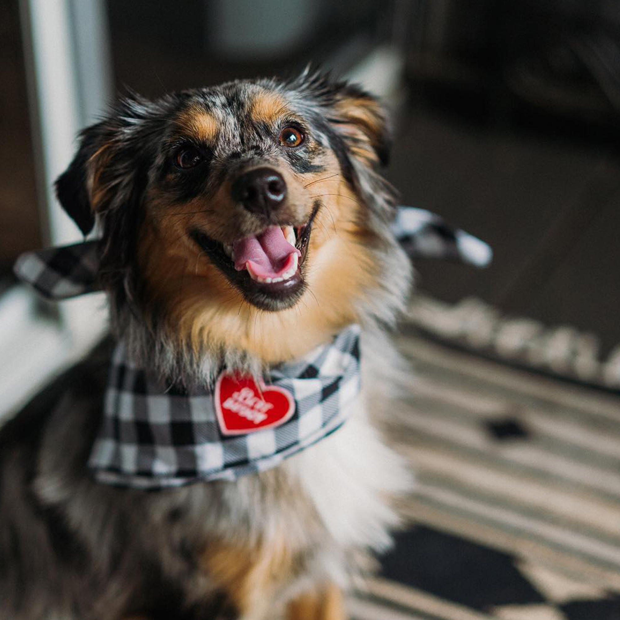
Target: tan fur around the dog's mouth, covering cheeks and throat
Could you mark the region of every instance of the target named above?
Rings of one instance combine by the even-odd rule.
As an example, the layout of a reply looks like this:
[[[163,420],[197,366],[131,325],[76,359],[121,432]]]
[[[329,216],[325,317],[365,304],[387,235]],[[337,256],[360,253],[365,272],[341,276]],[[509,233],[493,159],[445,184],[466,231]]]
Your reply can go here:
[[[170,335],[191,342],[195,352],[247,351],[265,364],[299,358],[329,340],[339,329],[358,322],[358,301],[374,288],[379,268],[368,248],[373,233],[356,217],[359,198],[339,174],[330,154],[327,169],[297,179],[281,169],[288,185],[291,217],[307,221],[316,199],[323,206],[312,226],[306,257],[307,290],[299,302],[278,312],[262,311],[244,301],[195,242],[191,228],[218,241],[247,236],[222,187],[208,204],[166,205],[151,196],[151,215],[141,229],[139,264],[149,303],[167,319]],[[257,232],[257,231],[252,231]]]

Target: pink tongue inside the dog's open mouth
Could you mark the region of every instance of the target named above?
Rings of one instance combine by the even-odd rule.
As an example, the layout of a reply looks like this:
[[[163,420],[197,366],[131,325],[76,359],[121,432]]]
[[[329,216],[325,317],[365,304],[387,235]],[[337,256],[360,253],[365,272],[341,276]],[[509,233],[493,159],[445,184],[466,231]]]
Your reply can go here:
[[[239,239],[232,244],[234,268],[242,271],[252,262],[253,271],[263,278],[277,278],[288,265],[288,258],[301,252],[286,241],[280,226],[270,226],[258,236]]]

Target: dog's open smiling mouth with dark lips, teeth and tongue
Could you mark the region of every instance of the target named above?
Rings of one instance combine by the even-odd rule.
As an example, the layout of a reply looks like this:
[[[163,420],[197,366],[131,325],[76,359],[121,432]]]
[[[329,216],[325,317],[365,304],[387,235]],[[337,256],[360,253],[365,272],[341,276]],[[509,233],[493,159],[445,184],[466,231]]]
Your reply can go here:
[[[303,226],[268,226],[231,244],[199,230],[191,236],[247,301],[265,310],[281,310],[303,293],[303,265],[317,211],[316,206]]]

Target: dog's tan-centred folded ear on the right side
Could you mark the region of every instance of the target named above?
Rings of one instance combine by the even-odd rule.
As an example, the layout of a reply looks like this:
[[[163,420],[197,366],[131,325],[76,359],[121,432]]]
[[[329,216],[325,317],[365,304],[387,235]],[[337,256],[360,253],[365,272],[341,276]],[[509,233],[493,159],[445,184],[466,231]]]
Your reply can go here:
[[[386,166],[391,128],[379,101],[355,84],[334,84],[329,122],[347,143],[353,156],[374,167]]]

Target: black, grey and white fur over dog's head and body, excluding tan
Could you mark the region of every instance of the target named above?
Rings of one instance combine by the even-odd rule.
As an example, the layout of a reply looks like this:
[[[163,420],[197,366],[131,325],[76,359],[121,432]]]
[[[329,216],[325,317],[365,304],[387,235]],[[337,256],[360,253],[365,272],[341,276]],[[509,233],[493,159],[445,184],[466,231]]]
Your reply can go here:
[[[396,518],[384,497],[401,492],[408,480],[364,409],[387,402],[387,386],[394,380],[399,360],[381,324],[393,322],[403,307],[409,267],[389,231],[391,188],[377,170],[352,156],[350,138],[339,131],[342,118],[334,113],[343,97],[370,95],[308,72],[288,82],[231,82],[155,102],[131,95],[82,132],[78,154],[56,184],[58,197],[84,234],[95,220],[99,224],[100,278],[110,301],[112,327],[136,355],[182,378],[208,378],[223,364],[231,369],[251,366],[244,352],[197,358],[169,342],[157,329],[156,317],[144,321],[152,310],[141,306],[136,238],[149,185],[167,179],[167,191],[181,199],[208,194],[231,162],[268,154],[264,132],[243,120],[244,93],[255,83],[294,95],[299,115],[320,136],[316,148],[334,151],[343,176],[366,205],[360,217],[379,239],[370,250],[385,277],[358,309],[365,329],[362,350],[372,352],[362,355],[362,410],[312,451],[257,476],[166,492],[107,487],[95,484],[86,467],[102,416],[110,355],[108,343],[102,345],[0,431],[0,620],[119,620],[130,614],[177,620],[234,617],[231,601],[200,569],[201,554],[214,536],[242,538],[250,546],[270,532],[298,528],[299,573],[290,575],[274,604],[325,579],[346,583],[365,547],[381,549],[389,542],[387,527]],[[223,107],[241,125],[238,142],[227,153],[213,152],[205,162],[209,172],[200,179],[170,172],[174,145],[167,142],[167,123],[188,102]],[[386,127],[384,122],[378,125]],[[387,133],[371,139],[385,161]],[[104,145],[109,149],[107,164],[98,182],[106,191],[102,201],[91,205],[89,162]],[[309,151],[295,157],[299,161],[291,159],[291,165],[311,169]],[[327,513],[299,515],[300,506],[312,504],[312,494],[325,492],[317,489],[317,479],[332,484],[344,475],[339,463],[361,455],[351,474],[360,479],[340,487],[334,501],[324,506]]]

